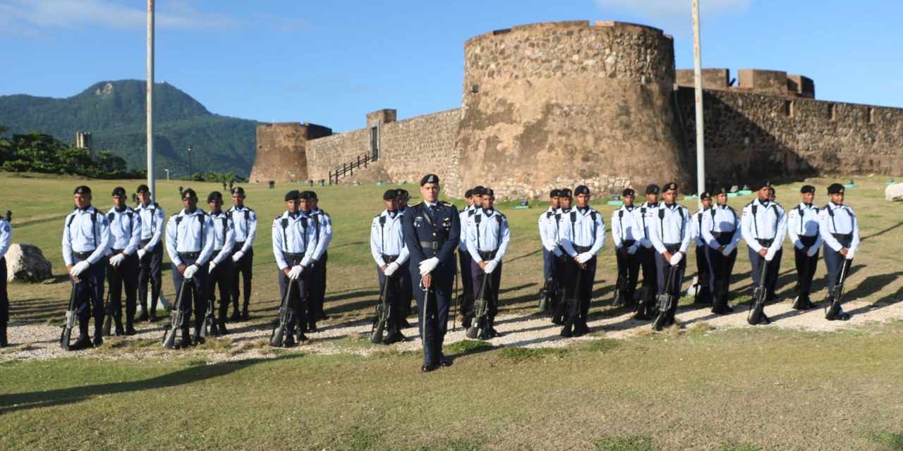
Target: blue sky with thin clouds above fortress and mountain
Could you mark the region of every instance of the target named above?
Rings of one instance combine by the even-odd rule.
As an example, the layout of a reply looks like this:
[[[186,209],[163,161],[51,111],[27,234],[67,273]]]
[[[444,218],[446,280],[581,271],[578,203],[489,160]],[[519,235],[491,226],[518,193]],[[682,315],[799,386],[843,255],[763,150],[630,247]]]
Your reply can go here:
[[[776,69],[815,97],[903,107],[903,2],[700,0],[703,67]],[[344,132],[461,106],[463,45],[513,25],[643,23],[693,68],[691,0],[156,0],[155,80],[211,113]],[[146,77],[146,0],[0,0],[0,96]]]

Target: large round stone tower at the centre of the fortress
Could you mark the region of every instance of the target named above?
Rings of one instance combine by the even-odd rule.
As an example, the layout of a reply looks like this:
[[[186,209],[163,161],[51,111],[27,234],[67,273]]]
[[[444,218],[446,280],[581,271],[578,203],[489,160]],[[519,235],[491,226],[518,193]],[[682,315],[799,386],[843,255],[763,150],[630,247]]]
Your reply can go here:
[[[461,186],[544,198],[686,181],[671,36],[615,22],[516,26],[464,44],[455,156]],[[455,184],[456,185],[456,184]],[[687,192],[691,189],[687,189]]]

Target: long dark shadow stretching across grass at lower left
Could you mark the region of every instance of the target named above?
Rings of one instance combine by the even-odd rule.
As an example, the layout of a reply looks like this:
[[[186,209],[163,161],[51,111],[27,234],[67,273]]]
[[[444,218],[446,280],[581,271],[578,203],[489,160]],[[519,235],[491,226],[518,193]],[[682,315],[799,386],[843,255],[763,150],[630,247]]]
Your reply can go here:
[[[237,362],[221,362],[219,364],[191,366],[173,373],[163,374],[140,381],[111,382],[97,385],[70,387],[50,391],[30,391],[0,395],[0,415],[17,410],[35,409],[42,407],[61,406],[74,404],[83,400],[90,400],[98,396],[132,391],[146,391],[192,382],[204,381],[215,377],[234,373],[255,364],[274,362],[302,357],[303,354],[282,355],[272,359],[249,359]]]

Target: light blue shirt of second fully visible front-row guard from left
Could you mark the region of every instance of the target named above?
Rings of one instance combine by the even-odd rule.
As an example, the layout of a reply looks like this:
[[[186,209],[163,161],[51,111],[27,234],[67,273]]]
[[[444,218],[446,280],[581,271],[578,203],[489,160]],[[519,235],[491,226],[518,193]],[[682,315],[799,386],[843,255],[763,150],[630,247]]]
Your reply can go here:
[[[204,210],[188,213],[182,208],[166,223],[166,252],[170,260],[182,264],[179,253],[200,253],[195,264],[202,266],[213,254],[213,220]]]

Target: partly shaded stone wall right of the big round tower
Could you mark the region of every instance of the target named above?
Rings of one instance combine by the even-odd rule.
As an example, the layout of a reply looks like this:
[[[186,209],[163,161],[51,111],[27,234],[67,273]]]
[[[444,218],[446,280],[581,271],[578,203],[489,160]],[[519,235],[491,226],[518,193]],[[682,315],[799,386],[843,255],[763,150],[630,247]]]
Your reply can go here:
[[[687,149],[695,149],[693,88],[676,97]],[[721,90],[706,90],[703,105],[706,172],[721,183],[903,176],[903,109]]]

